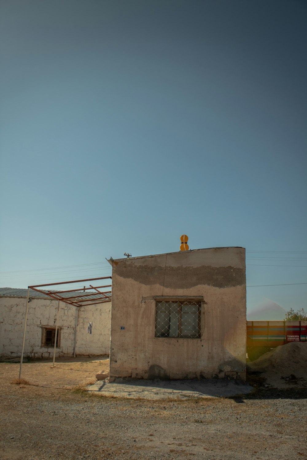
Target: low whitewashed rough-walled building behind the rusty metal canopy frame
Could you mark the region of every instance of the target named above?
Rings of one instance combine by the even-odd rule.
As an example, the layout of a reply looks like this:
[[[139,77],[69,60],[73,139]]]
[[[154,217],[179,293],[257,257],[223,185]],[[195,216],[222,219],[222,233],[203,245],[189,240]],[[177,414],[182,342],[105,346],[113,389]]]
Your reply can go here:
[[[0,288],[0,357],[20,357],[27,292]],[[53,356],[58,301],[33,290],[29,297],[24,356],[48,358]],[[76,356],[109,355],[110,309],[110,302],[87,307],[60,302],[56,356],[72,357],[74,347]],[[89,323],[91,334],[87,332]]]

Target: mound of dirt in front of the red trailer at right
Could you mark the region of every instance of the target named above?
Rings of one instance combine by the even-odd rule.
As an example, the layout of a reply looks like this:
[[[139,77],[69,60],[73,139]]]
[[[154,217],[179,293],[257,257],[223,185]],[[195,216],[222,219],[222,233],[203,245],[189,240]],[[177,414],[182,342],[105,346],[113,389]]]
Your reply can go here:
[[[307,388],[307,342],[278,346],[247,367],[251,372],[261,372],[266,382],[277,388]]]

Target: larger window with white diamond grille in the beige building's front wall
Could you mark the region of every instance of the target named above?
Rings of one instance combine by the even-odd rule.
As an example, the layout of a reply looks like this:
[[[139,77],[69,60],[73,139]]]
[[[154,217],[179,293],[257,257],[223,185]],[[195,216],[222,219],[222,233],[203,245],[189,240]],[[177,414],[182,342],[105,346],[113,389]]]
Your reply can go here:
[[[156,337],[200,337],[200,302],[156,301]]]

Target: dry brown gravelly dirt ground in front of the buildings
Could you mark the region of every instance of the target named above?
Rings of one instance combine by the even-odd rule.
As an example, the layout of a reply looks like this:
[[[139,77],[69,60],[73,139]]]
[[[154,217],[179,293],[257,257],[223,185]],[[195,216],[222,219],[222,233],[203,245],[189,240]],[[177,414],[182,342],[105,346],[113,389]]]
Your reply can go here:
[[[307,459],[307,389],[143,400],[82,389],[108,360],[0,364],[0,459]],[[258,380],[257,380],[258,379]],[[79,385],[79,386],[78,386]]]

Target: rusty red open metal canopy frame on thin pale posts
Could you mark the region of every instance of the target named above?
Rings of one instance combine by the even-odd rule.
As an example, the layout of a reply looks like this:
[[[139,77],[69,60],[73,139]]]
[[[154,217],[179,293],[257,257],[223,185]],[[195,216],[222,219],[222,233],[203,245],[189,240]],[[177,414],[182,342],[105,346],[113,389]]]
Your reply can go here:
[[[57,334],[58,334],[58,312],[60,309],[60,302],[64,302],[65,304],[73,305],[75,307],[86,307],[88,305],[96,305],[96,304],[105,304],[106,302],[111,301],[111,291],[101,291],[99,289],[104,288],[111,288],[111,284],[107,284],[104,286],[93,286],[93,284],[89,285],[89,288],[84,286],[83,288],[75,288],[75,289],[68,289],[68,290],[53,290],[48,289],[50,286],[60,286],[62,284],[73,284],[73,283],[83,283],[83,282],[93,282],[93,281],[100,281],[100,280],[107,280],[112,279],[112,276],[102,276],[100,278],[87,278],[86,280],[76,280],[76,281],[64,281],[61,283],[50,283],[50,284],[37,284],[35,286],[28,286],[28,295],[27,295],[27,304],[26,304],[26,314],[24,318],[24,329],[23,329],[23,347],[21,351],[20,357],[20,368],[19,368],[19,380],[21,379],[21,371],[23,366],[23,350],[24,350],[24,339],[26,336],[26,328],[27,328],[27,316],[28,316],[28,309],[29,309],[29,293],[30,289],[33,291],[39,292],[46,297],[51,297],[52,299],[58,300],[58,311],[57,311],[57,323],[55,328],[55,338],[54,338],[54,351],[53,351],[53,368],[55,367],[55,352],[56,352],[56,344],[57,344]],[[38,288],[47,288],[47,289],[38,289]],[[89,292],[86,292],[89,291]],[[87,302],[87,303],[86,303]],[[76,345],[76,333],[77,333],[77,322],[78,322],[78,311],[76,314],[75,320],[75,345]],[[75,357],[75,345],[74,345],[74,357]]]

